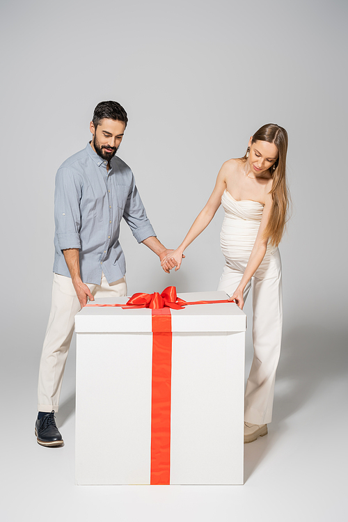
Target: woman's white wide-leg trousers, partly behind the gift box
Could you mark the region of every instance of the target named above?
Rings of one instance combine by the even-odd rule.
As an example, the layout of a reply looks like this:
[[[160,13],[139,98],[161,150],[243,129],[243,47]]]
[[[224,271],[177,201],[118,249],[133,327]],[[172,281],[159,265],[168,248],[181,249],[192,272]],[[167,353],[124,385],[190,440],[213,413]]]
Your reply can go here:
[[[248,260],[226,259],[218,290],[232,296]],[[274,383],[280,356],[283,322],[281,260],[278,248],[266,253],[244,292],[253,289],[254,356],[246,383],[244,420],[251,424],[271,422]]]

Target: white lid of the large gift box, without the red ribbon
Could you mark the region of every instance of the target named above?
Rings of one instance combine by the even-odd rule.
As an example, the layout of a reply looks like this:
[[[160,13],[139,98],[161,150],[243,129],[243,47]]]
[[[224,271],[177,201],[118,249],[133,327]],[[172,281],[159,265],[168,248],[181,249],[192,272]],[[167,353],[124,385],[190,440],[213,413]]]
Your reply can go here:
[[[185,301],[228,299],[225,292],[189,292],[177,294]],[[95,299],[94,303],[127,303],[129,297]],[[189,305],[171,310],[173,332],[237,332],[246,330],[246,315],[235,303]],[[151,332],[152,311],[148,308],[90,306],[75,316],[77,333]]]

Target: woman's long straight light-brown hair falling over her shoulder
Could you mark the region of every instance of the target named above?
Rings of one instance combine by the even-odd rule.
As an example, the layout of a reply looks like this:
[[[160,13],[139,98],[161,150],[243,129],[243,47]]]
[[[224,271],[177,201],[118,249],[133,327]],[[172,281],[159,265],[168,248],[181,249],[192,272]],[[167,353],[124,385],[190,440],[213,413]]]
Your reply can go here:
[[[264,237],[269,237],[270,244],[278,246],[283,237],[287,213],[289,210],[290,195],[286,182],[286,153],[287,153],[287,132],[283,127],[274,123],[262,125],[255,134],[251,143],[255,141],[268,141],[274,143],[278,148],[278,159],[274,166],[270,168],[273,184],[270,191],[272,197],[271,214],[269,222],[264,230]],[[247,151],[248,152],[248,151]],[[246,152],[246,154],[247,154]],[[246,155],[242,157],[246,161]]]

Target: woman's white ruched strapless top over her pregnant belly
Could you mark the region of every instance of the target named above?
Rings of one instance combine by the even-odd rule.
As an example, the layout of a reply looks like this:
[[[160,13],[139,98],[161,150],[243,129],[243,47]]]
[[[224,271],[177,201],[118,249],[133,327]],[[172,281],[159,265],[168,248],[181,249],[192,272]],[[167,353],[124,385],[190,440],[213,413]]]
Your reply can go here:
[[[221,250],[225,258],[248,260],[260,228],[262,203],[253,200],[237,201],[225,190],[221,197],[225,218],[221,228]],[[269,244],[267,253],[274,251]]]

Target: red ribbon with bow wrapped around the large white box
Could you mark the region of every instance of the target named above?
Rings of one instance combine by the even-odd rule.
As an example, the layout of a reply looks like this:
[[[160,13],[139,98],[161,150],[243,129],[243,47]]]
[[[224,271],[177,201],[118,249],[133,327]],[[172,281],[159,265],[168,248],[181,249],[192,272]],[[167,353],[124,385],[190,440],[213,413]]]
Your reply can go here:
[[[151,388],[151,471],[150,484],[170,484],[171,478],[171,371],[172,327],[171,308],[222,301],[192,301],[177,297],[175,286],[159,294],[133,294],[125,305],[88,303],[86,306],[121,306],[152,310],[152,388]]]

